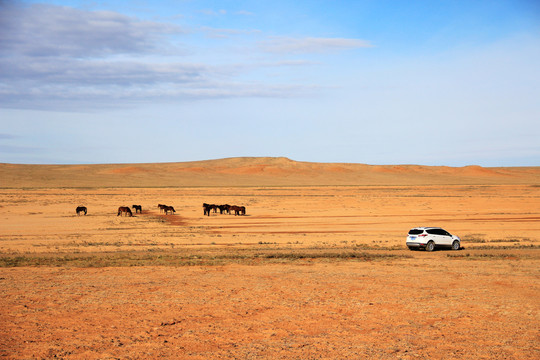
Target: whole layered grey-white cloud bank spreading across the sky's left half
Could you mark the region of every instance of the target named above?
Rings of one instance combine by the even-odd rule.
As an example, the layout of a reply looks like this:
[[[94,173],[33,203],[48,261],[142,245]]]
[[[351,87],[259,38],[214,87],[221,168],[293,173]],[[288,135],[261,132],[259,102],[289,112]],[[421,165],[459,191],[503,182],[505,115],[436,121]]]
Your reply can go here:
[[[84,109],[134,101],[281,97],[310,87],[235,80],[256,67],[181,62],[176,25],[53,5],[0,9],[0,103],[5,108]],[[210,29],[214,35],[252,31]],[[171,50],[173,49],[173,50]]]

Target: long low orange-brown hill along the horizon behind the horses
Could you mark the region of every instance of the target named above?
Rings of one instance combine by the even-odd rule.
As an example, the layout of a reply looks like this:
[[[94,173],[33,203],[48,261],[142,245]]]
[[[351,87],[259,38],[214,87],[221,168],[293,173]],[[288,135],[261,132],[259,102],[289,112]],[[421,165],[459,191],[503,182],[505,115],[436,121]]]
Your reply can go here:
[[[0,164],[1,188],[536,184],[540,167],[314,163],[238,157],[153,164]]]

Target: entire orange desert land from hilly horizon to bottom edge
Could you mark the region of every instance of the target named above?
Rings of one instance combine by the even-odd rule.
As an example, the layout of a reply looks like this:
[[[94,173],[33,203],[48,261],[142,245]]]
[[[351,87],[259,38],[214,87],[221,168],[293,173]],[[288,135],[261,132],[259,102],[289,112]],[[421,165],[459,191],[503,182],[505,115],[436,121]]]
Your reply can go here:
[[[540,167],[0,164],[0,357],[538,359],[539,258]]]

